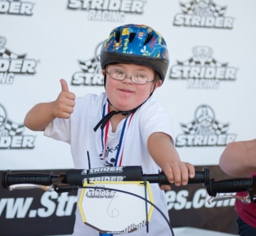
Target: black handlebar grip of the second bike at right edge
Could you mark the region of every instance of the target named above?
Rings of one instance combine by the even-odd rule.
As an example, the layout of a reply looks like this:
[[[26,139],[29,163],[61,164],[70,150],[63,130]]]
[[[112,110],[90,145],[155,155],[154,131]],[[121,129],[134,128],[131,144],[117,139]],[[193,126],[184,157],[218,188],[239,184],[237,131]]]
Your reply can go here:
[[[249,191],[255,184],[255,178],[236,178],[215,181],[211,179],[207,187],[207,193],[210,196],[216,196],[217,193],[236,193]]]

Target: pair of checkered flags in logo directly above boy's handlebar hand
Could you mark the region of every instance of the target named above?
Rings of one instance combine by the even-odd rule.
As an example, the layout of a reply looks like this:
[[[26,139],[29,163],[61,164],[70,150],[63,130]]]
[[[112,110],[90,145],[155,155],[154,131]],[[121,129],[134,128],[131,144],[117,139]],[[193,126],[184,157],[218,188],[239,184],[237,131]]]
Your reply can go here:
[[[200,128],[203,127],[197,121],[192,121],[188,124],[181,124],[181,128],[186,135],[197,135]],[[227,133],[229,124],[222,124],[221,122],[215,120],[211,126],[207,127],[207,129],[214,130],[216,135],[222,135]]]

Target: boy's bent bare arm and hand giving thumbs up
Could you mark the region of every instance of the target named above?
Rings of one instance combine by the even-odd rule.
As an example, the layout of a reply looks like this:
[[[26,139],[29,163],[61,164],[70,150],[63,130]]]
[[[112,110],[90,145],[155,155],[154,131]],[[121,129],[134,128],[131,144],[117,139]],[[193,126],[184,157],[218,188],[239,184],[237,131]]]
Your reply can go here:
[[[34,131],[43,131],[56,117],[68,119],[75,106],[75,94],[68,91],[68,84],[61,79],[61,93],[55,101],[35,105],[24,119],[24,125]]]

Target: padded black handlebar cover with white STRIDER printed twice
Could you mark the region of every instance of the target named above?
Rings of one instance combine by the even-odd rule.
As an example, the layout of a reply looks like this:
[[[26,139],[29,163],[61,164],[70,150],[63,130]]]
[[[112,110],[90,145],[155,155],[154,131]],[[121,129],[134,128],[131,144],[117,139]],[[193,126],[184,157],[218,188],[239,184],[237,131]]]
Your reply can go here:
[[[82,186],[84,181],[140,181],[142,166],[105,166],[88,170],[68,170],[65,182]]]

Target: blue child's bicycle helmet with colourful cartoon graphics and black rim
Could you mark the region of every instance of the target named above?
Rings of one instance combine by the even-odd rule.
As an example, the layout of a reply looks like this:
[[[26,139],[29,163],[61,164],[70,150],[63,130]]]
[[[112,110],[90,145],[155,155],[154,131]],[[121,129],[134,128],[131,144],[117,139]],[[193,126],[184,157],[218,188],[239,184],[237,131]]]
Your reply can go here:
[[[113,29],[103,42],[100,54],[102,68],[111,63],[148,66],[165,79],[169,54],[165,40],[149,26],[127,24]]]

